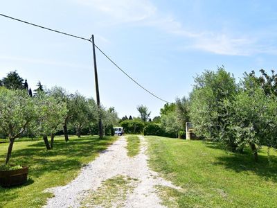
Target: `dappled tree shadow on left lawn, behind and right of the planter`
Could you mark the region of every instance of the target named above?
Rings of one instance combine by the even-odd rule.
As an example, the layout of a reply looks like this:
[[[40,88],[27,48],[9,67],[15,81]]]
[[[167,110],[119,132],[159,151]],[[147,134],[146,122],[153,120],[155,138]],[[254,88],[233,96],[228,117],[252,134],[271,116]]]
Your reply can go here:
[[[29,166],[29,173],[39,177],[51,171],[71,171],[82,166],[78,157],[89,157],[107,148],[109,139],[85,137],[65,143],[57,140],[52,150],[46,150],[44,141],[28,145],[28,148],[15,150],[12,157],[19,158],[17,164]],[[60,157],[62,157],[60,159]]]

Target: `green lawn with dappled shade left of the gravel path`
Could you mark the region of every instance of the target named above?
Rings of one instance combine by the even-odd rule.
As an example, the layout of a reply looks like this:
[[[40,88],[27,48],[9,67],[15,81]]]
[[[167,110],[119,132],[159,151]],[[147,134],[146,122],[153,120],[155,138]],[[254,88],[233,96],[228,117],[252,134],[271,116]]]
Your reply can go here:
[[[65,144],[64,137],[55,137],[53,150],[46,150],[42,139],[17,140],[10,163],[29,166],[28,182],[10,189],[0,187],[0,207],[42,207],[52,196],[51,193],[44,193],[44,189],[69,183],[84,164],[95,159],[116,138],[70,137]],[[5,161],[7,148],[8,143],[0,144],[0,164]]]

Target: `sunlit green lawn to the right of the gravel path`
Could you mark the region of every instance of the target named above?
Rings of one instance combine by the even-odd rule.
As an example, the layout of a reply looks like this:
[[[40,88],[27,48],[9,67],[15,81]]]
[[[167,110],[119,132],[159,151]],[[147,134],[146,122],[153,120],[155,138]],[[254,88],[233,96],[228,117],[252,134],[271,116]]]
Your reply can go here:
[[[253,162],[250,150],[226,153],[220,144],[146,137],[150,166],[182,187],[157,187],[168,207],[277,207],[277,154]]]

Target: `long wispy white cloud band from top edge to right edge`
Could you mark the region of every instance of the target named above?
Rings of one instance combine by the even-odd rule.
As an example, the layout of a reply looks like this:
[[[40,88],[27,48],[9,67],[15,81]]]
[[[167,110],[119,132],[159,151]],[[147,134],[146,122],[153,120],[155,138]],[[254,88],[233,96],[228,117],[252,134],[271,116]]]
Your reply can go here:
[[[235,35],[231,31],[200,31],[186,28],[172,15],[161,12],[150,0],[75,0],[91,6],[111,24],[136,24],[152,26],[166,33],[184,37],[190,41],[186,48],[221,55],[253,55],[255,53],[276,54],[277,49],[268,49],[259,40]]]

